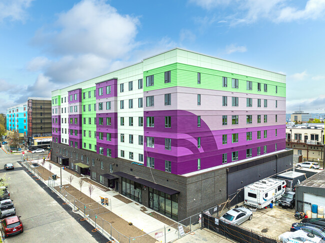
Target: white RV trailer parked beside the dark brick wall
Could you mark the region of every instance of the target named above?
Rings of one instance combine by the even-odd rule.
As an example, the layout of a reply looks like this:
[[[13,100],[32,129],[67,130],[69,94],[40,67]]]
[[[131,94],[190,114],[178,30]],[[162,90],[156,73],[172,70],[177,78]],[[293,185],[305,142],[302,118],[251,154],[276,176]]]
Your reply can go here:
[[[278,200],[285,192],[285,181],[265,178],[244,188],[244,204],[262,209]]]

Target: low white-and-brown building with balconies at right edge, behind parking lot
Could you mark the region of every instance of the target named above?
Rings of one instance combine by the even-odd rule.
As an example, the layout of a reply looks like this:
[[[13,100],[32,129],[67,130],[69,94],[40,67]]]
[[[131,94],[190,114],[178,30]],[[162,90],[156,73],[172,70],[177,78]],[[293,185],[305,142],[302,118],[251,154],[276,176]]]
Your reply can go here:
[[[293,149],[293,154],[302,155],[306,160],[323,161],[324,124],[287,125],[285,138],[286,148]]]

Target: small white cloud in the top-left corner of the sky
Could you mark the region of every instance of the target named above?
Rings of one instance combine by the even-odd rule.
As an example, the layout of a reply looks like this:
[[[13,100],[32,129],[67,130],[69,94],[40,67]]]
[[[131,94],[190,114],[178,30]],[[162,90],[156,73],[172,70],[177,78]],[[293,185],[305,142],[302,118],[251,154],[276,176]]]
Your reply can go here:
[[[8,18],[11,21],[24,21],[26,8],[33,0],[0,0],[0,22]]]

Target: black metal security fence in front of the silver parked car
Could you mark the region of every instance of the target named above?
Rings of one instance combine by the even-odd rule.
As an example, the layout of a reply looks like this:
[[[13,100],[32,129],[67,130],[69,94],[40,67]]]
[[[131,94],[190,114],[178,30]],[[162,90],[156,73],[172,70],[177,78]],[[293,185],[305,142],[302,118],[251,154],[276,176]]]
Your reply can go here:
[[[202,215],[202,227],[238,243],[280,243],[274,238],[255,232],[242,226],[225,223],[216,217]]]

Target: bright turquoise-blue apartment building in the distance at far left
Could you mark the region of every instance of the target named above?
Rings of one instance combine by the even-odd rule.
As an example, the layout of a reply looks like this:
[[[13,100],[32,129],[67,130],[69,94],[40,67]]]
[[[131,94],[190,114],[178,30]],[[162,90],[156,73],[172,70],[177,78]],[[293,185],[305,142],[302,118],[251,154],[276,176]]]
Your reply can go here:
[[[16,131],[20,137],[27,134],[27,102],[6,109],[6,130],[7,134]]]

